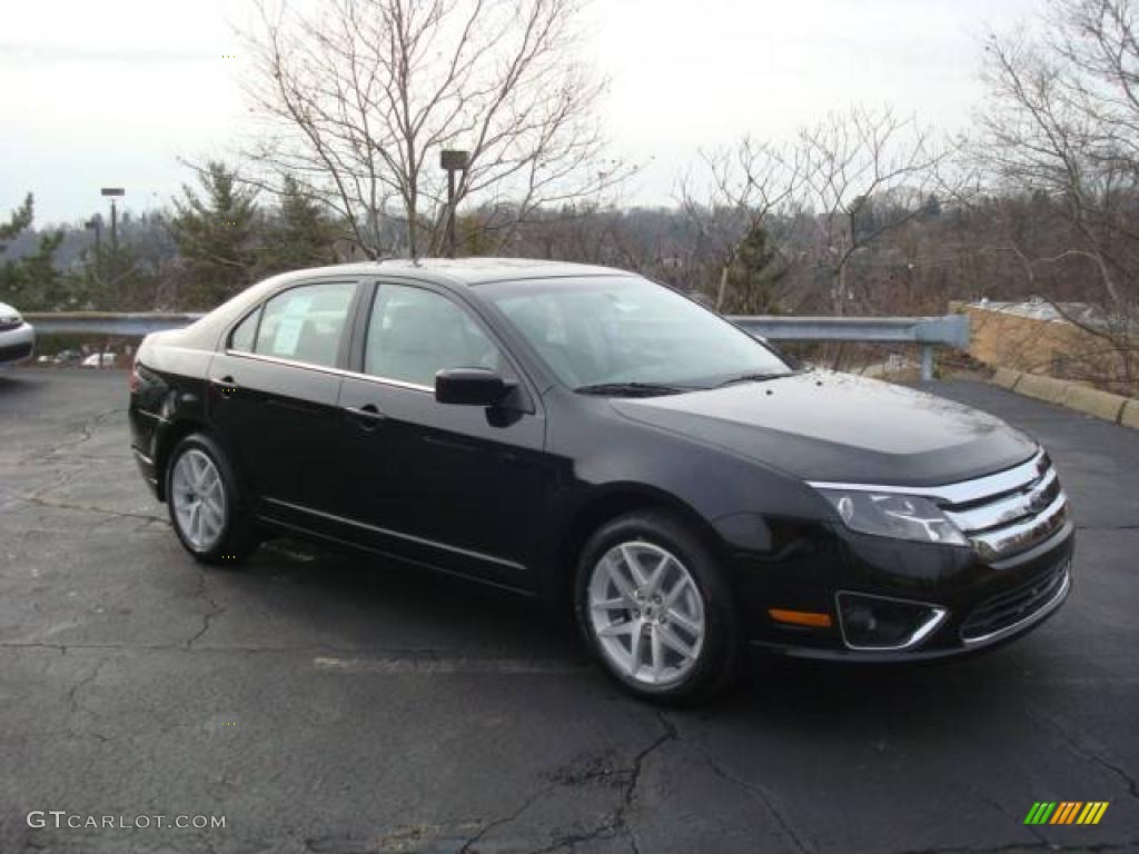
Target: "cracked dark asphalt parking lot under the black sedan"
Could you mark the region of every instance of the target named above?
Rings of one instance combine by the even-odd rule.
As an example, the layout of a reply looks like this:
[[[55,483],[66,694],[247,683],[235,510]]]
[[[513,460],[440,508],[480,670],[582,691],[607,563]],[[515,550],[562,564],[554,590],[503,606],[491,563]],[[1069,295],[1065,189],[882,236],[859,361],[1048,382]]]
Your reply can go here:
[[[0,373],[0,852],[1139,851],[1139,433],[935,388],[1051,450],[1067,606],[966,662],[759,660],[661,712],[523,599],[295,542],[203,572],[134,470],[124,373]],[[1027,827],[1036,800],[1111,806]]]

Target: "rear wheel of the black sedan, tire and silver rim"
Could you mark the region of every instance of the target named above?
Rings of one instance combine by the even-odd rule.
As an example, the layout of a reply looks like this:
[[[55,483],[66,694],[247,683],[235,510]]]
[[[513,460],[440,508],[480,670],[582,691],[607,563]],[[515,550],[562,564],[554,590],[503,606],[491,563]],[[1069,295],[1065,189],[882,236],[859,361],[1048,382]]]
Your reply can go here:
[[[241,564],[260,545],[233,467],[210,436],[183,436],[170,454],[165,478],[170,523],[196,560]]]

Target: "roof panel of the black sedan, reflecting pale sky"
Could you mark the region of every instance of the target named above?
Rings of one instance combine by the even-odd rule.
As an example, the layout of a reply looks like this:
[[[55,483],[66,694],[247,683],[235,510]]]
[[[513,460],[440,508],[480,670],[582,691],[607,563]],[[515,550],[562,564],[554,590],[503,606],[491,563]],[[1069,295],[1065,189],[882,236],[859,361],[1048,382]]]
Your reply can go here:
[[[294,278],[314,274],[383,276],[396,273],[412,278],[445,281],[452,285],[484,285],[491,281],[522,279],[556,279],[579,276],[629,276],[624,270],[593,264],[572,264],[564,261],[538,258],[383,258],[379,261],[336,264],[309,270],[297,270],[274,277],[280,284]]]

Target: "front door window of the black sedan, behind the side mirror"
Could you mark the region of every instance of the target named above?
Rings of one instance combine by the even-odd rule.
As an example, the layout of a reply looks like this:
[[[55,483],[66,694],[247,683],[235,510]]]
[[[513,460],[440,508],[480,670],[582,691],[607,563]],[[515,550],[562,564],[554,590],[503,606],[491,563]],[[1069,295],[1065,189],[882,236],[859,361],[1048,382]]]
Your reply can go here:
[[[503,371],[506,362],[474,318],[448,297],[380,285],[368,321],[364,372],[432,388],[435,375],[448,368]]]

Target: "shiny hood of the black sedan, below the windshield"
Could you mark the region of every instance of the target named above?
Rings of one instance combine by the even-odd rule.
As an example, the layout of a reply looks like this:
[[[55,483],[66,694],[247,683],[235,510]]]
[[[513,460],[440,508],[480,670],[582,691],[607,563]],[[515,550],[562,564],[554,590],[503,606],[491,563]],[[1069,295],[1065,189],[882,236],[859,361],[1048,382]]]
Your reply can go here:
[[[1009,468],[1036,450],[984,412],[831,371],[611,404],[804,481],[932,486]]]

